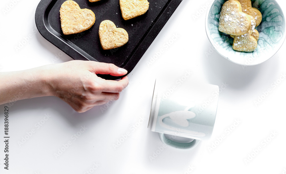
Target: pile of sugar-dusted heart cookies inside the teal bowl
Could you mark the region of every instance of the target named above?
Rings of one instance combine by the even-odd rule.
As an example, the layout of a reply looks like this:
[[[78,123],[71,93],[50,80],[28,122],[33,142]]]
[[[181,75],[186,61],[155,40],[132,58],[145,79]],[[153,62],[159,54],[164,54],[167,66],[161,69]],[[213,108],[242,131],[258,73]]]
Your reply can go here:
[[[261,19],[261,12],[252,7],[251,0],[228,0],[221,9],[219,31],[234,38],[234,50],[251,52],[257,48],[259,32],[255,27]]]

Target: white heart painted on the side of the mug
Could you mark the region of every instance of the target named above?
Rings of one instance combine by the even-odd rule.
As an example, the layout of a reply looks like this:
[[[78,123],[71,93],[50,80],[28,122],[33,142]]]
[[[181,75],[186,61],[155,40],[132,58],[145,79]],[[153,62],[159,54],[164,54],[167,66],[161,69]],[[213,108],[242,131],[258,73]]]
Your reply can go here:
[[[192,111],[174,111],[164,115],[164,117],[170,117],[176,124],[182,127],[188,127],[189,122],[187,119],[196,117],[196,114]]]

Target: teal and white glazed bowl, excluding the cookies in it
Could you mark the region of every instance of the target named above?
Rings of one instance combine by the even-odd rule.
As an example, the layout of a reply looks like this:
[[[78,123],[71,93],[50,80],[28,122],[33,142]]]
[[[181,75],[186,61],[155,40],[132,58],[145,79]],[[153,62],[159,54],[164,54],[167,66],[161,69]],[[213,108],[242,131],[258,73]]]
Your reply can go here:
[[[215,50],[240,65],[258,65],[271,58],[285,40],[285,17],[275,0],[251,0],[252,7],[262,13],[257,49],[252,52],[233,50],[233,38],[219,31],[221,7],[227,0],[215,0],[206,13],[206,35]]]

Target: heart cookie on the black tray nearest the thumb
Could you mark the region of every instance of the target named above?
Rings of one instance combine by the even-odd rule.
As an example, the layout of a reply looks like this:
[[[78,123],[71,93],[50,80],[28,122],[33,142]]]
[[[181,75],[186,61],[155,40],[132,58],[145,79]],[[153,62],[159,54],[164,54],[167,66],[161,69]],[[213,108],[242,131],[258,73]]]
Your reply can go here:
[[[128,33],[123,28],[116,28],[109,20],[100,23],[98,33],[104,50],[121,47],[128,42]]]

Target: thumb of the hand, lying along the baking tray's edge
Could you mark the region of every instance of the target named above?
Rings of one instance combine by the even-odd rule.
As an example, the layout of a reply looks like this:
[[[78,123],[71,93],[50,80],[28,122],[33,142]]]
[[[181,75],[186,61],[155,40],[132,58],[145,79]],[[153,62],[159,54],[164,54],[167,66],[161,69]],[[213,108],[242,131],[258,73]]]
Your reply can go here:
[[[127,73],[126,69],[119,68],[112,63],[90,61],[90,68],[90,71],[95,74],[110,74],[112,76],[121,76]]]

